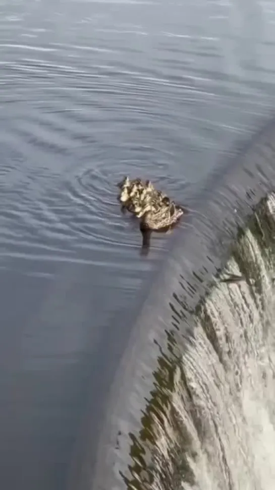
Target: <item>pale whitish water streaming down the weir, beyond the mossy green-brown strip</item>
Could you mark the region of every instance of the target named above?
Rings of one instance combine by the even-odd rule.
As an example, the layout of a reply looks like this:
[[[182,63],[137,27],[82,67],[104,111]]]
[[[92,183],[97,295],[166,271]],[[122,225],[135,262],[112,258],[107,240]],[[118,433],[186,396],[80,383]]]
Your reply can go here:
[[[185,488],[274,485],[274,197],[240,231],[228,261],[227,270],[244,280],[213,287],[177,373],[176,386],[182,372],[187,388],[173,399],[190,438]]]

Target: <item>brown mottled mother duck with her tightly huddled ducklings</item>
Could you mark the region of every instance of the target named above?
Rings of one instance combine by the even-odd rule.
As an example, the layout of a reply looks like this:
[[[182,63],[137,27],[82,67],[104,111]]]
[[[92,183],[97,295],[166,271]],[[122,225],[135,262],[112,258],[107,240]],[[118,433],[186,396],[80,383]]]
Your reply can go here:
[[[184,209],[171,201],[166,194],[157,191],[150,180],[130,180],[127,176],[118,187],[122,208],[140,219],[141,231],[170,228],[184,214]]]

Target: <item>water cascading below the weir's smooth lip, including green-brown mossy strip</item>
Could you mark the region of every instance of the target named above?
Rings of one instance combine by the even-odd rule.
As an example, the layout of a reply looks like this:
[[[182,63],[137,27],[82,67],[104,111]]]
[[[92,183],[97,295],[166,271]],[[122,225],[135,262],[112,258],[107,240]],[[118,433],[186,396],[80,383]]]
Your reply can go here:
[[[273,488],[274,212],[271,194],[240,230],[184,341],[181,296],[171,304],[173,356],[159,362],[158,383],[133,439],[128,488]]]

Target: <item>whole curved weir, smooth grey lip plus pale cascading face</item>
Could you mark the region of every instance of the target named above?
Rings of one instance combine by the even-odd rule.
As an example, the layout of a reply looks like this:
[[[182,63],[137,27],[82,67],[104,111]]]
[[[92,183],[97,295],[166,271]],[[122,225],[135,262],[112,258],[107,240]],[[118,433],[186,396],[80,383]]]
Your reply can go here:
[[[251,479],[249,488],[259,481],[257,488],[269,488],[268,455],[257,458],[249,447],[271,443],[252,431],[247,399],[258,383],[258,409],[273,434],[273,351],[266,352],[274,188],[273,120],[190,199],[192,212],[149,293],[142,292],[138,313],[119,319],[127,327],[124,345],[115,342],[114,322],[106,348],[112,362],[91,394],[70,489],[232,490],[242,478]],[[244,280],[221,282],[225,270]]]

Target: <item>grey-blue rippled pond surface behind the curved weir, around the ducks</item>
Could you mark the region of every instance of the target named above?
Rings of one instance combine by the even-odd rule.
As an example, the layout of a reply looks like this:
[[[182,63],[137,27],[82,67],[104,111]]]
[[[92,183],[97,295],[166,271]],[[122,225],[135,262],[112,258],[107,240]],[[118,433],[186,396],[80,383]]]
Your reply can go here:
[[[112,319],[165,254],[115,183],[184,202],[272,111],[274,24],[271,1],[1,1],[1,487],[65,487]]]

